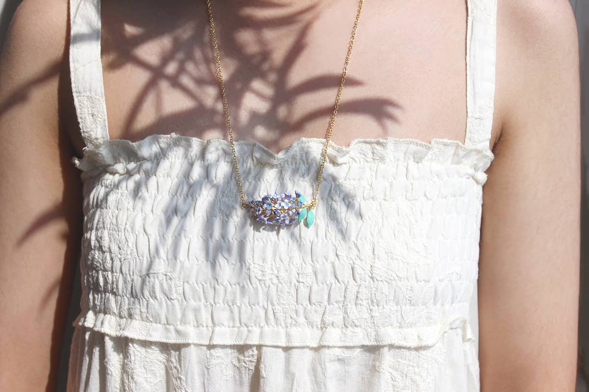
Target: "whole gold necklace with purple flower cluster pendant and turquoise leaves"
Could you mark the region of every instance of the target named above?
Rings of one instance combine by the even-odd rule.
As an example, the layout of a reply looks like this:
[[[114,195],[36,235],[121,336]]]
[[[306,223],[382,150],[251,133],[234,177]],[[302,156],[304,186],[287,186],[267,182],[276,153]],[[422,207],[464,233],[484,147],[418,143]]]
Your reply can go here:
[[[348,71],[348,64],[350,61],[350,55],[352,54],[352,46],[354,39],[356,38],[356,29],[358,29],[358,21],[360,19],[360,12],[362,11],[362,2],[359,0],[358,12],[356,14],[356,20],[352,29],[352,36],[350,37],[350,43],[348,46],[348,54],[346,55],[346,62],[343,66],[342,81],[337,89],[337,96],[335,100],[335,108],[329,121],[329,129],[327,130],[327,138],[325,139],[325,146],[323,146],[321,165],[319,168],[319,174],[317,175],[317,183],[315,191],[313,192],[313,198],[310,203],[306,203],[305,196],[303,196],[298,190],[294,190],[294,196],[289,192],[267,194],[262,197],[262,200],[251,200],[246,202],[245,196],[243,196],[243,189],[241,187],[241,176],[239,173],[239,165],[237,165],[237,154],[235,152],[235,145],[233,143],[233,130],[231,129],[231,121],[229,119],[229,106],[227,105],[227,96],[225,93],[225,86],[223,83],[223,72],[221,72],[221,60],[219,57],[219,46],[217,45],[217,37],[215,35],[215,26],[213,22],[213,12],[211,11],[211,1],[207,0],[207,9],[209,10],[209,31],[211,33],[211,39],[213,41],[214,58],[216,61],[216,71],[219,76],[219,83],[221,86],[221,98],[223,99],[223,110],[225,118],[227,120],[227,128],[229,129],[229,140],[231,143],[231,152],[233,153],[233,166],[236,172],[237,187],[239,188],[239,195],[241,197],[241,208],[247,209],[250,215],[256,222],[264,223],[266,225],[292,225],[295,222],[302,222],[306,220],[307,227],[313,225],[315,222],[315,213],[313,207],[317,205],[317,195],[319,194],[319,187],[321,186],[321,180],[323,176],[323,167],[325,166],[325,159],[327,156],[327,148],[329,146],[329,140],[333,132],[333,123],[335,122],[335,116],[337,115],[337,109],[339,108],[339,100],[342,97],[343,85],[346,81],[346,72]]]

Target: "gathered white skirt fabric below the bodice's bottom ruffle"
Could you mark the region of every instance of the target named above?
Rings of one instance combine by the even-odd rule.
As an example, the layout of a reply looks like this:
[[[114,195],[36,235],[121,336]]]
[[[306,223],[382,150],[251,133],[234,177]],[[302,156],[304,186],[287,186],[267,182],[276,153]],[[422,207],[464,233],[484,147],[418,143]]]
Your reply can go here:
[[[77,327],[69,390],[104,392],[475,391],[474,341],[435,346],[280,347],[169,344]]]

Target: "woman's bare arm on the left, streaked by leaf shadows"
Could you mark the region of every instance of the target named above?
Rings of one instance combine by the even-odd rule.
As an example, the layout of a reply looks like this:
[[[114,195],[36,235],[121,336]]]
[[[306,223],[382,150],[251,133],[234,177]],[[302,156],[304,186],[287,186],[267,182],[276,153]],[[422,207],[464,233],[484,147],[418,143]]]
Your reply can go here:
[[[0,61],[4,391],[54,390],[79,252],[80,175],[60,123],[66,26],[67,1],[25,0]]]

